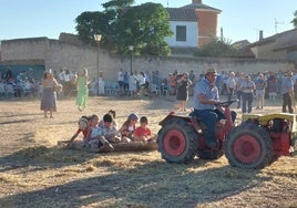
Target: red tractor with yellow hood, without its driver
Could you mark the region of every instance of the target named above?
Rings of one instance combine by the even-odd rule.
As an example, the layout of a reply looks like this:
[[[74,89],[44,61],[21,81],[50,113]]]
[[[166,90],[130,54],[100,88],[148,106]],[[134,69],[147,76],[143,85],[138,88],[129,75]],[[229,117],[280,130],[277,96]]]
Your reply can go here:
[[[277,156],[297,150],[296,115],[273,114],[270,116],[246,114],[244,122],[235,126],[229,106],[237,101],[223,102],[226,119],[216,124],[216,148],[205,144],[206,126],[198,117],[168,114],[157,133],[158,152],[168,163],[191,163],[195,156],[217,159],[226,155],[233,166],[263,168]],[[294,129],[294,131],[293,131]]]

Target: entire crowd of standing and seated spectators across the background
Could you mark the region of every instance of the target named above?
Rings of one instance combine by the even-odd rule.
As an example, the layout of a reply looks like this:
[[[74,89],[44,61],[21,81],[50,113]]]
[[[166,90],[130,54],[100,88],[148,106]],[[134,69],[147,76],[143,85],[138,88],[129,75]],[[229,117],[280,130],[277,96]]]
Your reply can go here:
[[[41,110],[44,111],[44,117],[48,117],[47,112],[57,111],[57,96],[70,96],[75,91],[75,105],[79,111],[86,107],[89,93],[94,91],[95,95],[105,95],[107,91],[107,82],[103,75],[91,82],[88,74],[88,69],[82,69],[80,72],[71,72],[68,69],[61,69],[51,73],[51,84],[47,71],[41,82],[33,77],[32,72],[23,71],[12,76],[10,67],[6,72],[1,72],[0,79],[0,95],[7,96],[10,92],[11,96],[22,96],[27,93],[39,94],[41,97]],[[170,95],[175,96],[176,104],[174,111],[187,111],[187,101],[194,95],[194,89],[197,82],[205,77],[205,73],[195,74],[194,71],[178,72],[175,70],[168,73],[166,77],[162,76],[158,71],[152,72],[127,72],[120,69],[117,72],[117,82],[114,82],[114,91],[119,96],[137,96],[143,95]],[[246,73],[222,71],[216,74],[214,83],[218,89],[219,95],[227,95],[227,100],[238,100],[237,108],[242,108],[242,113],[250,113],[253,110],[263,110],[265,100],[283,98],[283,112],[293,113],[295,108],[295,97],[297,96],[297,73],[293,72],[260,72]],[[52,107],[49,108],[47,103],[50,102],[50,87],[59,86],[62,90],[51,92]],[[43,95],[42,95],[43,94]],[[45,96],[47,95],[47,96]],[[45,98],[47,97],[47,98]],[[47,101],[49,100],[49,101]]]

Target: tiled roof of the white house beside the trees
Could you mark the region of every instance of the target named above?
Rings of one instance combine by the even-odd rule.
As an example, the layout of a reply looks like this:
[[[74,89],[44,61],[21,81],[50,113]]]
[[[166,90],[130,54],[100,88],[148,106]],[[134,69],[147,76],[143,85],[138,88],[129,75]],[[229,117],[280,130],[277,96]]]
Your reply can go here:
[[[167,8],[171,21],[197,21],[194,9],[188,8]]]

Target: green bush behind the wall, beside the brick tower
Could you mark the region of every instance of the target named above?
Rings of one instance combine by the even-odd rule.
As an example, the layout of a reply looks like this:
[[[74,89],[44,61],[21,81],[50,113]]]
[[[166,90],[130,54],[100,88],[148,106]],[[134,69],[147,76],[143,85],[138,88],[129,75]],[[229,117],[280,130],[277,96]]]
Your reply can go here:
[[[225,39],[214,38],[208,44],[204,44],[196,56],[226,58],[237,54],[237,50]]]

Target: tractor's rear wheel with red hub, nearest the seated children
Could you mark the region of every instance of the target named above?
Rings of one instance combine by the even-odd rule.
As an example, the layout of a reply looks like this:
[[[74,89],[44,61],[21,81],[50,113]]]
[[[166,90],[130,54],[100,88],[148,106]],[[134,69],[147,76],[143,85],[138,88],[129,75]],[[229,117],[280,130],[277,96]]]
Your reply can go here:
[[[172,118],[158,131],[157,145],[166,162],[187,164],[197,153],[198,134],[188,121]]]

